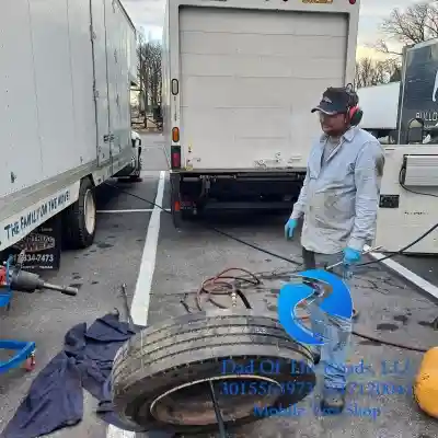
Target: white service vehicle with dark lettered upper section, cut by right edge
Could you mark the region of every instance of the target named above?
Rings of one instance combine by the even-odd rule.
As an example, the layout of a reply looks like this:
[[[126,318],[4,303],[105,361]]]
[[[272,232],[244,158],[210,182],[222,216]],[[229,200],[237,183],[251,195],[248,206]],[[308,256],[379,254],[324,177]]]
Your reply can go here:
[[[385,148],[374,244],[438,254],[438,39],[406,46],[397,143]],[[429,231],[429,232],[428,232]]]

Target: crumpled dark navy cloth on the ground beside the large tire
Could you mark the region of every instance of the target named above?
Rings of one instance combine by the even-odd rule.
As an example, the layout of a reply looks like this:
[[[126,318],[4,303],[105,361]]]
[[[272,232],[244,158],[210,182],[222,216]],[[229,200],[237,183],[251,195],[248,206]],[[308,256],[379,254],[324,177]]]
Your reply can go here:
[[[110,376],[117,350],[138,328],[119,321],[117,313],[99,318],[89,328],[72,327],[65,348],[33,381],[4,438],[35,438],[78,424],[83,415],[82,389],[99,400],[97,415],[125,430],[113,411]]]

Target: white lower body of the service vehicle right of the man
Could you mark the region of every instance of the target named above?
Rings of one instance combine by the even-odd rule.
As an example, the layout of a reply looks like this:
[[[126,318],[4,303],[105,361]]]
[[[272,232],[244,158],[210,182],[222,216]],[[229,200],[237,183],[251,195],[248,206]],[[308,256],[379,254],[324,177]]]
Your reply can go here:
[[[438,254],[438,146],[385,148],[373,245],[384,252]],[[425,233],[435,226],[435,229]],[[422,235],[423,239],[418,240]]]

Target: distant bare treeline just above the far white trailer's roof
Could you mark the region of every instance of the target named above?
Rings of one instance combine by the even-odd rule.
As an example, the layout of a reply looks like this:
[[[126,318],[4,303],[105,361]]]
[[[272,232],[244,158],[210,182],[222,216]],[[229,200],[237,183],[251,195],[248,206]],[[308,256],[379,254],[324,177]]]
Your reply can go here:
[[[361,58],[356,62],[355,88],[377,85],[400,80],[401,68],[393,59]]]

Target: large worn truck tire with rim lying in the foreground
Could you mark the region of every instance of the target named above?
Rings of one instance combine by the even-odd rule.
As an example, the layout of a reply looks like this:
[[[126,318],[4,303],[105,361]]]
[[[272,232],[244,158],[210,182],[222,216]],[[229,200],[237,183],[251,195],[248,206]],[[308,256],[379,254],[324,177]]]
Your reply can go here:
[[[274,318],[188,314],[147,327],[120,348],[113,402],[123,420],[146,430],[217,431],[210,381],[230,429],[304,399],[315,384],[313,358]]]

